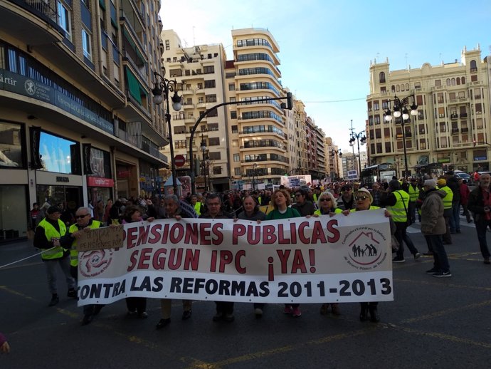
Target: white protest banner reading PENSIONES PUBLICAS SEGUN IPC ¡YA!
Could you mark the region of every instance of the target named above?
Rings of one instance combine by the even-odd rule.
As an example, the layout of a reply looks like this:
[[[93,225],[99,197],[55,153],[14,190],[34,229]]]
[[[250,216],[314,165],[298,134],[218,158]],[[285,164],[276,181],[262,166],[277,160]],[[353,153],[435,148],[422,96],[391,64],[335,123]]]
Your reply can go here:
[[[118,249],[79,253],[78,305],[125,297],[264,303],[392,301],[384,209],[334,217],[125,224]]]

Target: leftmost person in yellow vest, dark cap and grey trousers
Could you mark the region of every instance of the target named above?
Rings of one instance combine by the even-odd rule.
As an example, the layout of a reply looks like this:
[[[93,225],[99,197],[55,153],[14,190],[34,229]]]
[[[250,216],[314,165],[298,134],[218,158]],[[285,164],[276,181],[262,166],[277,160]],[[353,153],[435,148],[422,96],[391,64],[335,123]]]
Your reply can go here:
[[[48,276],[48,289],[51,292],[51,301],[48,306],[55,306],[60,298],[56,285],[56,264],[60,265],[65,281],[68,286],[67,296],[77,298],[75,291],[75,279],[70,275],[70,259],[68,249],[64,249],[60,244],[60,239],[66,234],[66,226],[60,221],[61,211],[58,207],[52,206],[46,210],[46,217],[39,222],[34,233],[34,247],[41,249],[41,259],[46,267]]]

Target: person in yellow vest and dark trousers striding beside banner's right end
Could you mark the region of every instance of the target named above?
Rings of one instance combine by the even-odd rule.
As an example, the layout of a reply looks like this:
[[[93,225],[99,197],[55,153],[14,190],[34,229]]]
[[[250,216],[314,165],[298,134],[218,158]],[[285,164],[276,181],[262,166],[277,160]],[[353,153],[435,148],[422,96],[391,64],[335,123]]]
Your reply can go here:
[[[404,259],[403,241],[408,246],[411,254],[413,254],[414,260],[419,259],[421,256],[406,232],[408,227],[408,205],[409,194],[401,189],[401,184],[398,180],[391,180],[389,182],[389,193],[381,198],[381,207],[386,207],[389,210],[394,223],[396,223],[395,237],[398,241],[399,248],[396,251],[396,257],[392,260],[394,263],[403,263],[406,261]]]

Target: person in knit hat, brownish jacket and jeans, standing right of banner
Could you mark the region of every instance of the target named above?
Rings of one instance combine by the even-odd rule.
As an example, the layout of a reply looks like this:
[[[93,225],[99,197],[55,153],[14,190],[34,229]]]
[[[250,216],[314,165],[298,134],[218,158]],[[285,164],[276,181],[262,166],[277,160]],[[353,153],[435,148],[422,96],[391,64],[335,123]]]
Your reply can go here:
[[[433,268],[426,271],[434,277],[450,277],[447,252],[442,242],[442,234],[446,232],[445,219],[443,217],[443,198],[446,192],[436,189],[434,180],[424,182],[426,193],[421,205],[421,233],[426,239],[428,249],[433,253]]]

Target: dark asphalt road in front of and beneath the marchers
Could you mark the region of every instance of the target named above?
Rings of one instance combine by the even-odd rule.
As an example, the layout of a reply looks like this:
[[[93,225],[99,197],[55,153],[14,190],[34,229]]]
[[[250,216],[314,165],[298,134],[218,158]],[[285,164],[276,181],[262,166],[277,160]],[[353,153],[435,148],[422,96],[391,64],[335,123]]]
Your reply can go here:
[[[0,355],[0,368],[490,368],[491,266],[473,224],[461,220],[462,234],[446,246],[453,276],[427,275],[432,259],[413,261],[406,251],[406,263],[394,264],[395,300],[379,304],[380,323],[361,323],[357,303],[340,305],[341,316],[303,305],[300,318],[270,304],[261,319],[237,303],[236,321],[215,323],[214,304],[200,301],[181,321],[174,301],[171,324],[157,331],[160,304],[149,299],[147,319],[127,318],[118,301],[80,326],[82,309],[64,289],[48,307],[39,256],[1,267],[35,254],[28,241],[1,245],[0,331],[11,353]],[[424,252],[418,228],[410,236]]]

